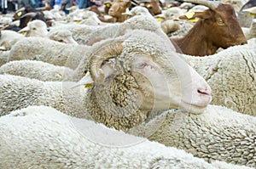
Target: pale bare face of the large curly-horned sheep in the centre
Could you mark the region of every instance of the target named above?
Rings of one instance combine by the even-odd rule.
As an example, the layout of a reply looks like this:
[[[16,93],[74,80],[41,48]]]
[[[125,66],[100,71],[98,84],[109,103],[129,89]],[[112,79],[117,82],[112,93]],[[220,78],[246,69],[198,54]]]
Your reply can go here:
[[[207,82],[188,65],[138,56],[131,63],[131,74],[141,94],[142,110],[182,108],[200,113],[211,101]],[[181,60],[181,62],[183,62]]]

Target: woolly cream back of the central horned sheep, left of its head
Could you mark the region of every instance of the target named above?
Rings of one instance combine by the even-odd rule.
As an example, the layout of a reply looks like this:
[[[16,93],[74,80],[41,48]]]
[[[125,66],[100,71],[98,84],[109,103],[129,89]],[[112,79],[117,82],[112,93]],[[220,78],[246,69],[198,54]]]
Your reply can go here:
[[[29,105],[48,105],[80,118],[84,112],[84,87],[71,88],[76,82],[41,82],[21,76],[0,75],[0,116]]]

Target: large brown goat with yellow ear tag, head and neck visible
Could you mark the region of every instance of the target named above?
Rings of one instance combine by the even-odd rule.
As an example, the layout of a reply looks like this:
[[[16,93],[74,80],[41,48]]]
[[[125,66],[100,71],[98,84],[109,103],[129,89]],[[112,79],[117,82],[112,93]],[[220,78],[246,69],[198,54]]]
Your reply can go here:
[[[177,51],[183,54],[205,56],[215,54],[218,48],[247,43],[241,31],[235,10],[230,4],[207,2],[204,0],[189,0],[190,3],[200,3],[209,9],[195,12],[191,18],[199,18],[189,33],[179,39],[171,39]],[[184,19],[185,16],[181,16]]]

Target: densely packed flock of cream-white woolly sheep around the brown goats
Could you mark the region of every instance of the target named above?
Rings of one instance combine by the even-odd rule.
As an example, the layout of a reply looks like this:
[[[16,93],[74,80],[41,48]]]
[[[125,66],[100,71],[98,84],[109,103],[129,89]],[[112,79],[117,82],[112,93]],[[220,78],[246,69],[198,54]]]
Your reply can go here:
[[[170,40],[188,10],[207,7],[52,9],[53,26],[2,30],[0,168],[255,168],[256,22],[247,44],[192,56]]]

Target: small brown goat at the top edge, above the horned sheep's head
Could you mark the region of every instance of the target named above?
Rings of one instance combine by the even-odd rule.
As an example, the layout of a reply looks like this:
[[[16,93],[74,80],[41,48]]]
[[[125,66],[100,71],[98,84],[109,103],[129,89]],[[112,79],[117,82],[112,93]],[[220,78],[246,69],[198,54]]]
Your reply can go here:
[[[126,8],[131,7],[131,0],[114,0],[108,10],[108,14],[116,19],[116,22],[124,22],[127,16],[124,15]]]

